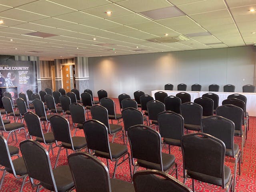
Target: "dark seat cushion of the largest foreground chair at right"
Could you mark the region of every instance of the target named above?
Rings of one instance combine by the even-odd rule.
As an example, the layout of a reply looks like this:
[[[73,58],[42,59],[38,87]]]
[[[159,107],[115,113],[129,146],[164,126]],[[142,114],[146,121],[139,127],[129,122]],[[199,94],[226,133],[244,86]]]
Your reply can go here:
[[[195,180],[222,186],[222,179],[214,176],[209,176],[203,173],[198,173],[194,171],[189,171],[188,170],[188,176],[191,178],[194,178]],[[224,184],[226,185],[229,178],[230,178],[231,170],[228,166],[224,165]]]

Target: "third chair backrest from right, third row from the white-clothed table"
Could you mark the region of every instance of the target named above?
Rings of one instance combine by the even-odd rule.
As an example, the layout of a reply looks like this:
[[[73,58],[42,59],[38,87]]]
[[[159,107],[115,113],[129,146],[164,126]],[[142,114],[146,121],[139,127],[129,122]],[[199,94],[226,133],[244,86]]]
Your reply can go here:
[[[156,120],[157,115],[163,111],[165,111],[165,106],[162,102],[157,100],[152,100],[147,102],[147,111],[149,120]]]

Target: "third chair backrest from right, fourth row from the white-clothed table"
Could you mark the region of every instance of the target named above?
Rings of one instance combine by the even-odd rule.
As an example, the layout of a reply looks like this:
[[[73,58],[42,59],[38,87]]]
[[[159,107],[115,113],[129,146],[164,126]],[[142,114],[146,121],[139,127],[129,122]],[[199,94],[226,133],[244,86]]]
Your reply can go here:
[[[124,108],[122,110],[124,121],[124,130],[128,130],[131,126],[143,124],[143,114],[136,108]]]

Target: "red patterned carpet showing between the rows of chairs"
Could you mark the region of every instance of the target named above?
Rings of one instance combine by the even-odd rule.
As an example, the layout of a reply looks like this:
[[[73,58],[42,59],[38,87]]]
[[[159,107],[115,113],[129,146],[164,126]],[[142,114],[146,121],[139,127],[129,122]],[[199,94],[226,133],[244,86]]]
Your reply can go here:
[[[116,103],[117,112],[120,113],[118,99],[114,99]],[[89,114],[90,117],[90,114]],[[87,115],[86,115],[87,118]],[[91,117],[90,117],[91,118]],[[116,122],[115,122],[116,123]],[[72,122],[70,122],[70,125]],[[241,175],[237,174],[236,177],[236,192],[256,192],[256,133],[255,133],[255,126],[256,126],[256,118],[250,117],[250,130],[248,132],[248,139],[246,140],[246,144],[244,147],[244,162],[241,166]],[[74,130],[72,129],[72,135]],[[7,134],[4,134],[5,138],[7,138]],[[79,130],[76,136],[84,136],[83,130]],[[24,133],[18,134],[18,142],[21,142],[25,139]],[[10,138],[11,141],[11,138]],[[122,139],[120,134],[115,138],[114,142],[118,142],[122,144]],[[235,137],[235,142],[239,144],[241,147],[241,138]],[[19,146],[19,143],[16,141],[9,142],[8,144]],[[163,148],[163,152],[168,153],[168,148]],[[56,156],[58,153],[58,148],[54,149],[54,156],[50,152],[50,160],[52,162],[52,166],[55,164]],[[72,150],[69,150],[69,154],[72,153]],[[172,147],[171,153],[176,157],[176,163],[178,164],[178,176],[179,180],[182,182],[183,178],[183,169],[182,169],[182,152],[179,150],[178,147]],[[21,155],[21,153],[20,153]],[[15,158],[15,157],[14,157]],[[102,159],[102,161],[106,164],[106,160]],[[62,150],[60,154],[60,158],[58,161],[58,166],[66,165],[67,164],[67,157],[65,150]],[[233,172],[234,170],[234,159],[233,158],[226,158],[225,164],[229,166]],[[133,168],[133,167],[132,167]],[[110,162],[110,176],[112,176],[114,171],[114,162]],[[2,171],[0,172],[0,177],[2,177]],[[129,165],[128,161],[124,162],[120,166],[118,166],[116,171],[116,178],[126,181],[131,181],[130,174],[129,174]],[[18,180],[14,178],[12,174],[6,174],[4,179],[4,183],[2,186],[1,192],[18,192],[20,190],[22,180]],[[186,181],[186,185],[192,188],[192,182],[190,179]],[[211,184],[206,184],[203,182],[195,182],[195,190],[196,192],[217,192],[217,191],[224,191],[221,187],[214,186]],[[36,191],[36,188],[32,188],[30,182],[27,182],[23,189],[24,192],[31,192]],[[47,190],[41,190],[41,192]]]

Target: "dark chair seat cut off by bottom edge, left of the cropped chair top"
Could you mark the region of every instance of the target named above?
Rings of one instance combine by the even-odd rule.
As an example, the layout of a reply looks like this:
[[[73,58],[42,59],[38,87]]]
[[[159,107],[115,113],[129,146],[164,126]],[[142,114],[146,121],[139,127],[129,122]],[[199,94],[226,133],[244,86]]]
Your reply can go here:
[[[134,186],[130,182],[126,182],[120,179],[110,179],[112,192],[135,192]]]

